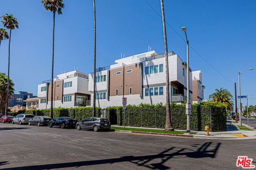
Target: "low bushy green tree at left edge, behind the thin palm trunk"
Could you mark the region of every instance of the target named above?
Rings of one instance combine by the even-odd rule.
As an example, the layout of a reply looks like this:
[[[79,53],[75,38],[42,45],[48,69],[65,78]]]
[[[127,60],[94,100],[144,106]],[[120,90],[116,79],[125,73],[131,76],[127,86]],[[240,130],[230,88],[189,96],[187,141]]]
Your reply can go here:
[[[5,73],[0,73],[0,113],[5,112],[6,105],[6,91],[7,91],[7,75]],[[8,99],[11,98],[14,93],[14,84],[13,81],[9,80],[9,96]]]

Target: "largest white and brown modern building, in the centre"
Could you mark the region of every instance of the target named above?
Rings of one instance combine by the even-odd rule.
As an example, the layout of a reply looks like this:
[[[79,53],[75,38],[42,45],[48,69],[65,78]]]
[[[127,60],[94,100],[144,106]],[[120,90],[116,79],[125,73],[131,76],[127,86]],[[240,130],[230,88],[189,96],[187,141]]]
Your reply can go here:
[[[170,94],[172,102],[186,102],[186,63],[174,52],[169,57]],[[189,69],[190,70],[190,69]],[[190,102],[192,102],[192,73],[190,74]],[[122,106],[127,104],[166,104],[164,54],[155,50],[121,58],[115,64],[101,67],[96,73],[96,106]],[[89,91],[93,94],[93,73],[89,74]],[[93,101],[93,95],[91,97]]]

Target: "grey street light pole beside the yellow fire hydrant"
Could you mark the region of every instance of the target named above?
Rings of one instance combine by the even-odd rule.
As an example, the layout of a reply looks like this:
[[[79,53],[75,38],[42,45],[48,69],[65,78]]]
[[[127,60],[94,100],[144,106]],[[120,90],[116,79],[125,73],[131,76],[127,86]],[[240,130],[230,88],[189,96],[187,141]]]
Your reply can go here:
[[[186,107],[186,114],[187,114],[187,133],[190,132],[190,112],[191,112],[191,104],[189,101],[189,44],[188,44],[188,37],[187,37],[187,29],[186,27],[181,28],[185,32],[186,42],[187,42],[187,107]]]

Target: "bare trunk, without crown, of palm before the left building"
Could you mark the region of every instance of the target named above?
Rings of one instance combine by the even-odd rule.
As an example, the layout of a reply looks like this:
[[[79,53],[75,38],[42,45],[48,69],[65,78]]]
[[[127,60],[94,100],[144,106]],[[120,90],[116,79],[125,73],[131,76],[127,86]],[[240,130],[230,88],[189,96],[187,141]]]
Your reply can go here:
[[[54,66],[54,29],[55,29],[55,12],[53,12],[53,32],[52,32],[52,81],[51,81],[51,118],[53,118],[53,66]]]

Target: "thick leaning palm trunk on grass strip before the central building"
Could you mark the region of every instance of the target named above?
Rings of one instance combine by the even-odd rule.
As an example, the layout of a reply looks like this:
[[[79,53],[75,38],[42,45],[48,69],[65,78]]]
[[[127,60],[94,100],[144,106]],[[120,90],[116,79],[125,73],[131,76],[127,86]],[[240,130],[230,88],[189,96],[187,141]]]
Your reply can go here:
[[[166,81],[166,122],[165,130],[173,131],[172,120],[171,120],[171,109],[170,109],[170,83],[169,83],[169,64],[168,64],[168,49],[165,29],[165,18],[164,18],[164,2],[161,0],[161,11],[163,21],[163,34],[164,34],[164,49],[165,49],[165,81]]]

